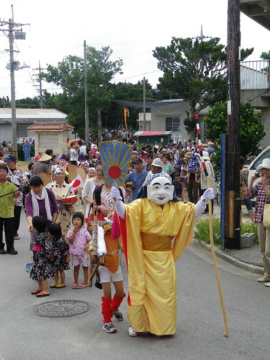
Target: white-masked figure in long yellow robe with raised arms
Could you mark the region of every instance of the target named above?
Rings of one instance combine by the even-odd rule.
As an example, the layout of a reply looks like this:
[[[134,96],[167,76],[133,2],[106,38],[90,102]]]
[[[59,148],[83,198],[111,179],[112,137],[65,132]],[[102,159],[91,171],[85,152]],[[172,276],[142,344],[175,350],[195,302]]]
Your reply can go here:
[[[155,335],[175,333],[174,262],[190,244],[194,219],[204,210],[205,199],[213,199],[214,193],[208,189],[196,205],[177,201],[173,193],[170,179],[160,174],[153,175],[139,192],[141,198],[129,205],[122,203],[117,188],[111,190],[120,216],[128,267],[131,336],[142,331]]]

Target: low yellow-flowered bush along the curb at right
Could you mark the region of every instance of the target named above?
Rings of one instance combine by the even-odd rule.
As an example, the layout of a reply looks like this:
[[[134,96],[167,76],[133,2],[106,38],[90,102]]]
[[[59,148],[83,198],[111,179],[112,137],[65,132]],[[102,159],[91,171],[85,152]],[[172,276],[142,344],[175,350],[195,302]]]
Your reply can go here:
[[[205,243],[210,244],[209,237],[209,218],[199,218],[195,223],[194,238],[198,240],[203,240]],[[213,227],[213,240],[216,247],[221,247],[221,221],[218,217],[212,217],[212,227]],[[255,243],[258,243],[258,232],[257,224],[247,221],[241,224],[240,234],[243,235],[246,232],[253,232]]]

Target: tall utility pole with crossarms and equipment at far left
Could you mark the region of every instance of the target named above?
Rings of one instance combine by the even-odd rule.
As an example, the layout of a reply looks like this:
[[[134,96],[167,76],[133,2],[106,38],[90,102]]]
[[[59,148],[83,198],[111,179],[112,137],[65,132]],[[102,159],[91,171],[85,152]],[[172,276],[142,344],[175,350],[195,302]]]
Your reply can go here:
[[[13,15],[13,5],[12,7],[12,19],[8,21],[2,21],[0,19],[0,27],[3,25],[8,25],[8,29],[1,29],[0,31],[8,32],[8,40],[10,42],[10,64],[7,65],[7,69],[10,69],[10,87],[11,87],[11,116],[12,116],[12,154],[17,158],[17,126],[16,126],[16,100],[15,100],[15,76],[14,71],[19,70],[19,61],[14,61],[14,52],[13,43],[14,38],[18,40],[25,40],[25,32],[22,32],[23,25],[30,25],[30,24],[21,24],[21,23],[14,23],[14,15]],[[18,29],[20,27],[20,30]]]

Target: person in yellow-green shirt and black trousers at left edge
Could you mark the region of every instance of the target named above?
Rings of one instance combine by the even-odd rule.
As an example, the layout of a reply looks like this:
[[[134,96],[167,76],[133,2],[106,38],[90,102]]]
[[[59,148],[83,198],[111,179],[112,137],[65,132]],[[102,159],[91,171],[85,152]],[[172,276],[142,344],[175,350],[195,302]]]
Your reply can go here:
[[[0,254],[16,255],[14,249],[14,198],[17,199],[21,192],[16,191],[16,185],[7,180],[8,166],[0,164]],[[10,193],[11,194],[8,194]],[[5,232],[5,244],[3,243],[3,230]]]

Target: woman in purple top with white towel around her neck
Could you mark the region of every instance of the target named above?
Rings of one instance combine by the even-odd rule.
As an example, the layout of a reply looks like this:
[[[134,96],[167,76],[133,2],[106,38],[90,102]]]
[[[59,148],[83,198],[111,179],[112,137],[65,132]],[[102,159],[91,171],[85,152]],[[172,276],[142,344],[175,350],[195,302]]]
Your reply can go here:
[[[30,250],[32,250],[34,245],[33,217],[43,216],[49,227],[56,219],[58,206],[54,192],[43,187],[41,177],[33,176],[30,179],[30,187],[31,191],[25,196],[25,214],[31,236]]]

